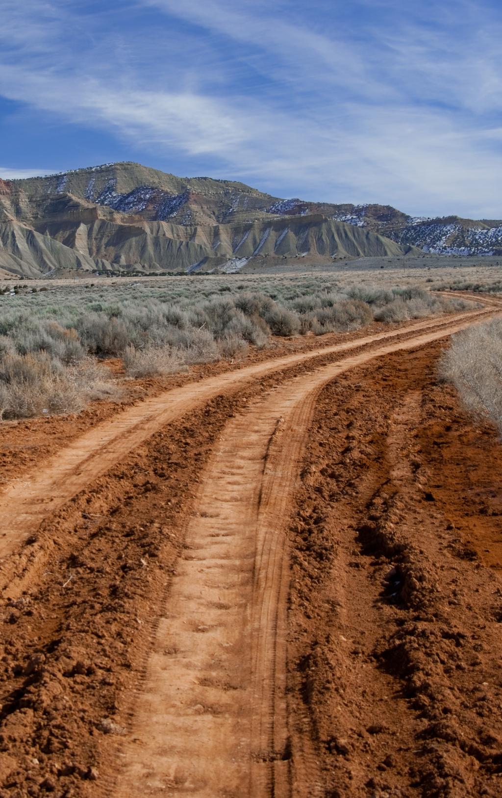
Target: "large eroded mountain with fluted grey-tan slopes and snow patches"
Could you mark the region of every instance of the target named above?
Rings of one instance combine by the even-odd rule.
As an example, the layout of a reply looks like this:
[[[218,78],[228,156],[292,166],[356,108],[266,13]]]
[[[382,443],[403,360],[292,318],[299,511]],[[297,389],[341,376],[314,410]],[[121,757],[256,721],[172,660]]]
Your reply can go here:
[[[234,272],[250,262],[329,263],[413,249],[334,219],[337,206],[292,202],[243,183],[182,179],[128,162],[2,180],[0,269],[27,277]]]

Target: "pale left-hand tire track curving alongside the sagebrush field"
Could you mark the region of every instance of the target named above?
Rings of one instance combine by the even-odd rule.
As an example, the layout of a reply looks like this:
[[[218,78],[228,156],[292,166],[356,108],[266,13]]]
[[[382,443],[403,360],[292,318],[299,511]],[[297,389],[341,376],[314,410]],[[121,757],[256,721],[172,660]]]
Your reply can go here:
[[[174,419],[183,416],[219,393],[236,392],[247,382],[283,369],[306,364],[312,369],[319,358],[359,346],[373,346],[379,341],[413,335],[419,330],[450,329],[452,324],[486,318],[498,307],[493,300],[484,300],[488,309],[458,314],[455,319],[418,322],[404,330],[370,335],[336,346],[275,358],[243,369],[208,377],[172,389],[158,397],[140,402],[119,413],[69,444],[50,458],[45,468],[29,474],[22,483],[13,484],[0,496],[0,559],[13,552],[43,519],[56,512],[82,488],[109,471],[121,458],[137,448]]]

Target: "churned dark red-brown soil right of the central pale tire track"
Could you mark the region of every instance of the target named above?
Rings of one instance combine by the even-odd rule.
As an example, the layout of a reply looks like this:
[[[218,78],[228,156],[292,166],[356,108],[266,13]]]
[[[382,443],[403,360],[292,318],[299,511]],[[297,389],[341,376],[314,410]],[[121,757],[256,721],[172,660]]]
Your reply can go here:
[[[476,523],[464,504],[476,446],[500,487],[500,443],[437,384],[440,354],[331,383],[310,428],[290,525],[288,694],[334,798],[500,796],[502,591],[450,519],[456,498]],[[437,468],[456,417],[468,437],[452,432],[457,456]],[[500,535],[500,512],[488,521]]]

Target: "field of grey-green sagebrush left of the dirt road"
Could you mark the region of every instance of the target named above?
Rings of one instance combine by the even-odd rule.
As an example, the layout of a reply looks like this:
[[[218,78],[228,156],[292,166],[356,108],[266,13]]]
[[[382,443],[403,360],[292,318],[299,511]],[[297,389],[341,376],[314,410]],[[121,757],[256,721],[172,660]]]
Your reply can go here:
[[[342,288],[329,275],[256,285],[244,278],[173,279],[3,295],[2,417],[80,409],[105,391],[109,380],[97,372],[105,358],[121,358],[131,377],[149,377],[239,357],[249,346],[267,346],[271,336],[346,332],[374,319],[400,322],[468,306],[417,287]]]

